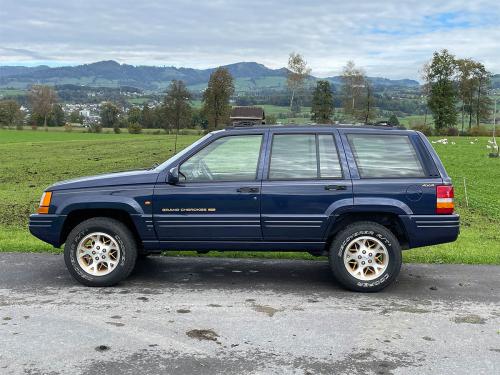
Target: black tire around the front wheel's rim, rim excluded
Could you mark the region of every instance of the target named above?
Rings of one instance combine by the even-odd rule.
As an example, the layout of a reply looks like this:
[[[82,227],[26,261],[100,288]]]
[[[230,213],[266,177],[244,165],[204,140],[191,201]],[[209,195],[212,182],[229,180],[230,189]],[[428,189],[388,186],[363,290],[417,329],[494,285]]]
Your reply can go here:
[[[120,251],[116,268],[102,276],[87,273],[77,259],[78,244],[86,235],[94,232],[105,233],[112,237],[118,244]],[[130,230],[118,220],[107,217],[96,217],[78,224],[70,232],[64,245],[64,261],[69,273],[86,286],[105,287],[118,284],[130,275],[136,260],[137,243]]]

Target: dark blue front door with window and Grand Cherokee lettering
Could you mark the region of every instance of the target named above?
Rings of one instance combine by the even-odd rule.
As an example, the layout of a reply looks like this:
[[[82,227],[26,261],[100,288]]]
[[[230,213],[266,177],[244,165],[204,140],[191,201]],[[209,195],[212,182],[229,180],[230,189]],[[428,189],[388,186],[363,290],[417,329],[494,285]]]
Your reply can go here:
[[[179,183],[155,189],[161,241],[262,240],[258,178],[262,134],[226,135],[181,162]]]

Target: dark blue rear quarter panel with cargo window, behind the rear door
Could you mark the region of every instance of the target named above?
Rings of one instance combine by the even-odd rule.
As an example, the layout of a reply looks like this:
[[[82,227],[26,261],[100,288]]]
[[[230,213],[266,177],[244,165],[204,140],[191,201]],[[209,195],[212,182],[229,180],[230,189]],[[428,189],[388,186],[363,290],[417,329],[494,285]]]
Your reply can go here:
[[[386,206],[396,214],[432,215],[441,176],[417,133],[341,130],[355,207]]]

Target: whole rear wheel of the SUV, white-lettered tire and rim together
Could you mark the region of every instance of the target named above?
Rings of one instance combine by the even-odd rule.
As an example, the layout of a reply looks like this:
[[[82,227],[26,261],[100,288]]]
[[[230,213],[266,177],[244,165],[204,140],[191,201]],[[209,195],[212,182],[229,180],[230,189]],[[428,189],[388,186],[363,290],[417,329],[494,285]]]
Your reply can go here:
[[[335,279],[345,288],[378,292],[399,275],[401,246],[386,227],[359,222],[335,236],[329,258]]]

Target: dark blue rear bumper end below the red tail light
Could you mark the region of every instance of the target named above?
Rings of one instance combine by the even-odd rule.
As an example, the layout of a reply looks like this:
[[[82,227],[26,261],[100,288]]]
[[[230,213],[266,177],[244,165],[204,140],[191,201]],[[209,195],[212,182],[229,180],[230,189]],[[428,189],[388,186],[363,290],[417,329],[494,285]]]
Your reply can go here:
[[[459,215],[402,215],[409,247],[453,242],[460,233]]]

